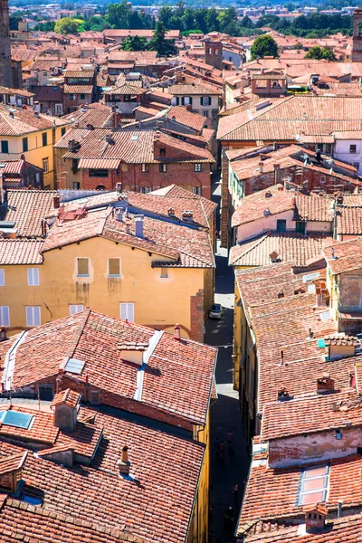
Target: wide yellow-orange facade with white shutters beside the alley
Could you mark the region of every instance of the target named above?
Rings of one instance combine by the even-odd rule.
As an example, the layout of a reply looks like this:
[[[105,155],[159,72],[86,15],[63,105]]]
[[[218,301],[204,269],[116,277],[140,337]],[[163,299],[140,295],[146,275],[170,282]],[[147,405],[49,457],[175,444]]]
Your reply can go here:
[[[152,267],[166,258],[101,237],[43,252],[39,260],[0,264],[0,305],[9,314],[1,324],[12,334],[90,307],[167,331],[177,322],[182,335],[195,338],[193,311],[204,319],[213,303],[214,269]]]

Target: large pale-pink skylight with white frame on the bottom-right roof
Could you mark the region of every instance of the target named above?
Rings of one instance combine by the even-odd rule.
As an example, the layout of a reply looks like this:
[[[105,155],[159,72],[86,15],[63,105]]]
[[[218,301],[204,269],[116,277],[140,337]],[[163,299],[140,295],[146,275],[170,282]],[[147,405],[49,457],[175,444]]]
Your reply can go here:
[[[300,473],[299,505],[326,500],[329,466],[313,467]]]

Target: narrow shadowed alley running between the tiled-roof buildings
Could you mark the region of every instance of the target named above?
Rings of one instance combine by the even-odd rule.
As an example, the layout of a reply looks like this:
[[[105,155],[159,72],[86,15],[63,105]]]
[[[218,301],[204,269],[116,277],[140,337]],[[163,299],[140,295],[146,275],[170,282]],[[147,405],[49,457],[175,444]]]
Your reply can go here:
[[[214,185],[214,202],[219,203],[220,185]],[[210,473],[210,543],[233,541],[247,477],[249,458],[246,454],[238,392],[233,390],[233,269],[228,266],[227,251],[218,244],[216,253],[215,301],[224,307],[220,320],[209,320],[205,343],[219,348],[216,367],[218,399],[211,408],[211,473]],[[226,433],[233,433],[229,449]],[[224,442],[224,460],[220,459],[219,443]],[[234,484],[239,484],[234,496]],[[224,526],[226,510],[233,508],[233,527]]]

